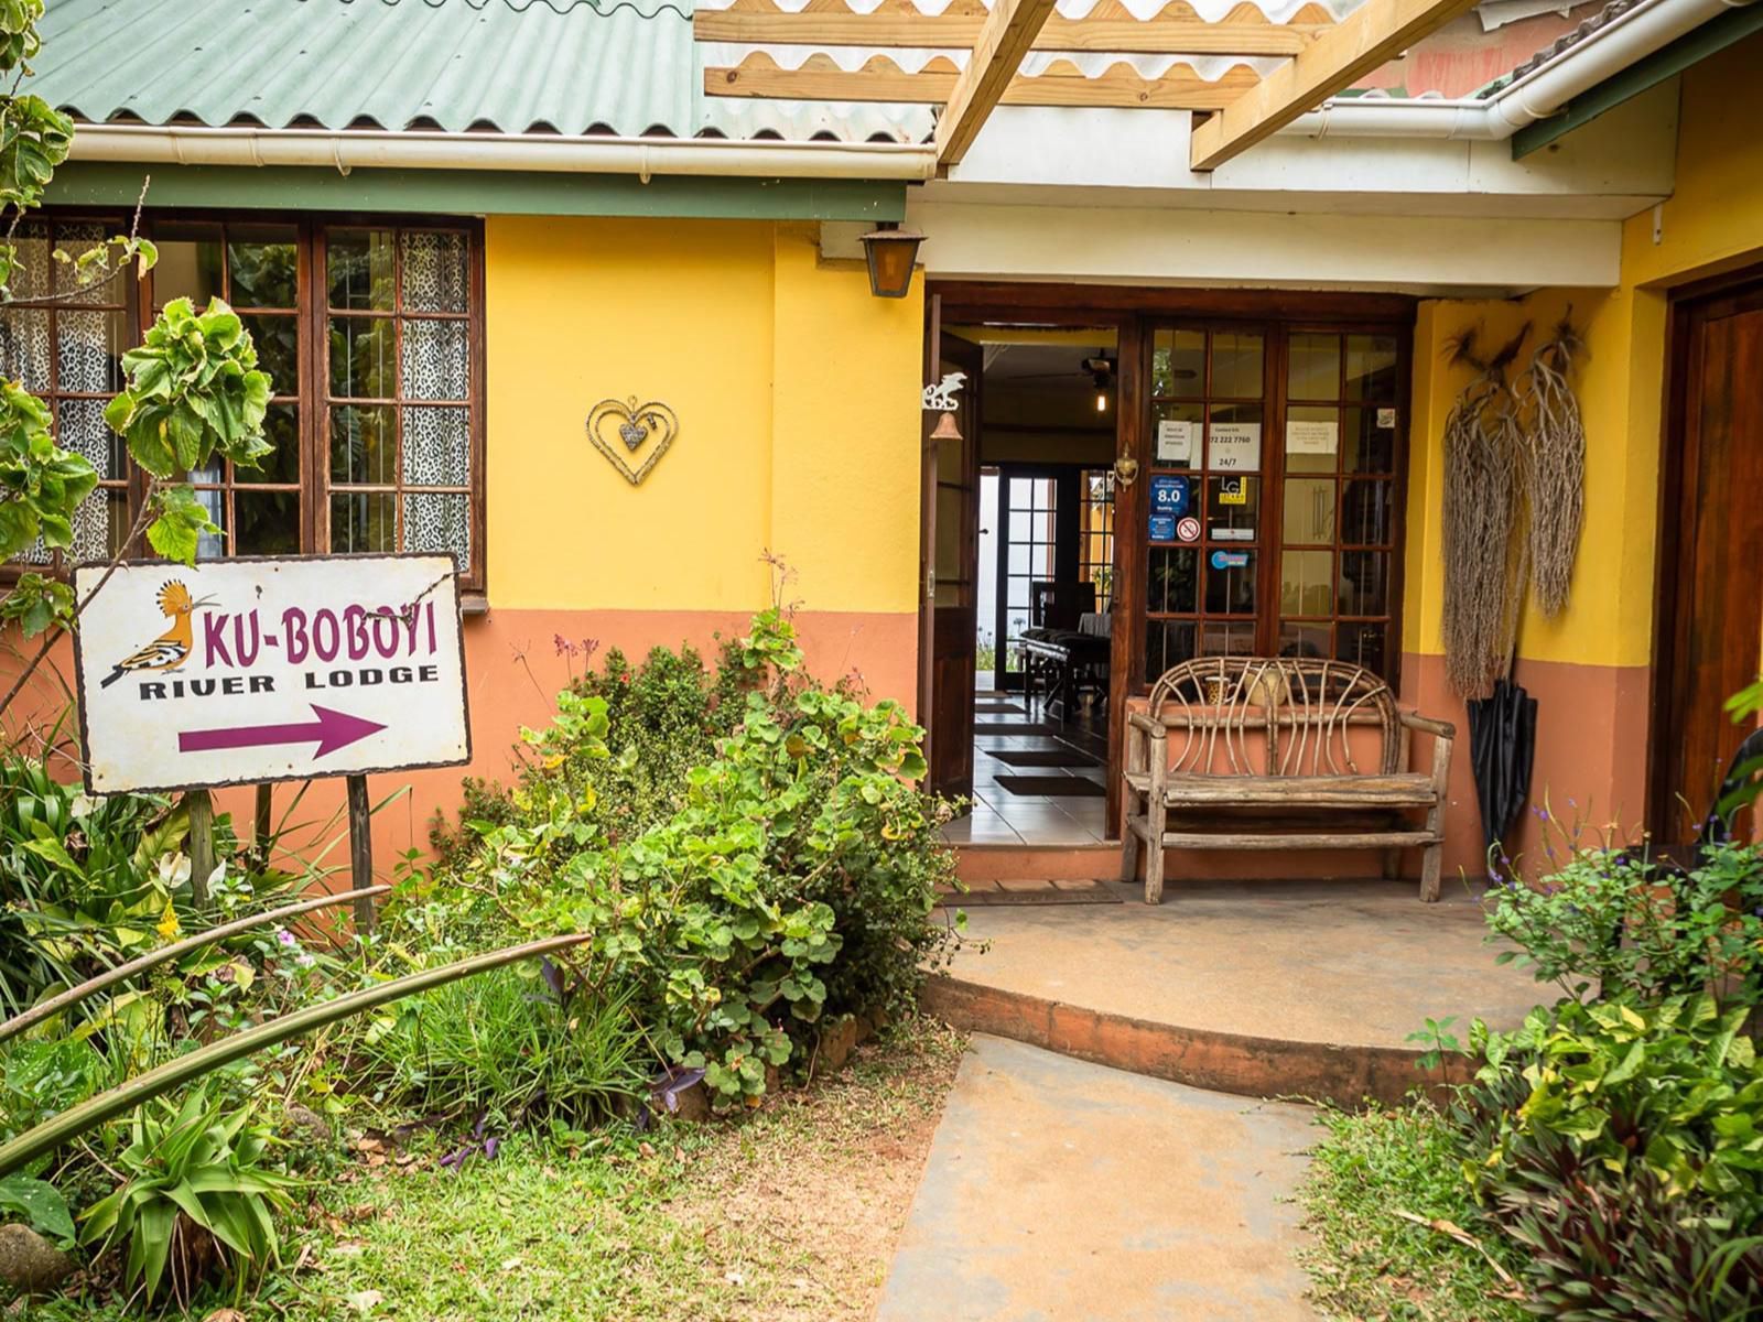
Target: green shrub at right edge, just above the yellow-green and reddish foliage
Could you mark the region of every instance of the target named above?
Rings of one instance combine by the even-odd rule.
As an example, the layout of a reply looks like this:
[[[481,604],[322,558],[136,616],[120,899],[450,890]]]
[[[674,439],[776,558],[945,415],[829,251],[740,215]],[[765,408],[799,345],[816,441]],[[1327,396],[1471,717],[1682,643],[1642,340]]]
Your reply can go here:
[[[1564,996],[1763,994],[1763,848],[1722,844],[1677,873],[1625,851],[1578,851],[1537,887],[1497,892],[1488,927]]]

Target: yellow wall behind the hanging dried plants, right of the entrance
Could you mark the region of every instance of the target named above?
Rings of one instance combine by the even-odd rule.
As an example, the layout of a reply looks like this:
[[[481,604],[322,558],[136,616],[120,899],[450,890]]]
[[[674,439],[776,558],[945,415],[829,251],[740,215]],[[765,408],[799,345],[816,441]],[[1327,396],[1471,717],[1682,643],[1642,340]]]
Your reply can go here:
[[[1534,603],[1520,654],[1537,661],[1645,666],[1652,659],[1659,543],[1659,444],[1666,367],[1666,294],[1722,270],[1763,261],[1763,37],[1751,37],[1682,78],[1677,187],[1661,212],[1624,224],[1622,284],[1610,291],[1544,289],[1523,300],[1428,301],[1414,344],[1409,546],[1403,650],[1437,656],[1444,564],[1442,432],[1469,372],[1447,342],[1465,326],[1500,342],[1525,321],[1537,342],[1571,305],[1587,360],[1576,381],[1585,412],[1585,532],[1573,596],[1557,620]]]

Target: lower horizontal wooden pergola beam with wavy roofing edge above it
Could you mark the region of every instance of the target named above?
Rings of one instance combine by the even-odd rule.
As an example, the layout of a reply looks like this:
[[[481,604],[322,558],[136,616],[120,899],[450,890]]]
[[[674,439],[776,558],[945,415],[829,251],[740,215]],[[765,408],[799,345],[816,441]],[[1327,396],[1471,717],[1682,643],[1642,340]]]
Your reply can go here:
[[[873,55],[862,69],[846,71],[829,55],[809,55],[800,67],[781,69],[769,55],[755,51],[739,65],[705,69],[703,90],[712,97],[948,102],[959,79],[961,71],[956,62],[941,56],[922,71],[908,74],[885,55]],[[1216,111],[1253,88],[1257,81],[1255,71],[1241,63],[1225,71],[1216,81],[1206,81],[1181,63],[1172,65],[1162,78],[1141,78],[1125,62],[1097,78],[1086,78],[1070,60],[1054,60],[1033,78],[1021,74],[1012,78],[998,104]],[[947,122],[947,113],[943,118]]]

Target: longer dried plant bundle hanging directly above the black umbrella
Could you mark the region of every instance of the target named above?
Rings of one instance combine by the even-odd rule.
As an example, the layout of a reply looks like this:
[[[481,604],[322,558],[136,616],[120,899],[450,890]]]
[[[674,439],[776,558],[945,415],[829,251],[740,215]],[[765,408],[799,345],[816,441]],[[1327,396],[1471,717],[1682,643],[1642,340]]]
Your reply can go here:
[[[1511,668],[1523,599],[1523,437],[1506,374],[1529,333],[1525,324],[1490,356],[1467,330],[1447,351],[1453,367],[1476,372],[1444,425],[1444,654],[1463,698],[1486,696]]]

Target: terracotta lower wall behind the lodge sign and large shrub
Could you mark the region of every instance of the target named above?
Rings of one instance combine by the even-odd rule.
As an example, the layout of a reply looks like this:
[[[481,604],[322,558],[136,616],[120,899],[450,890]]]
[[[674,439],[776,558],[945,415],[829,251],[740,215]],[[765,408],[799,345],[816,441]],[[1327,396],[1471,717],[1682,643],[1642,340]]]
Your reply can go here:
[[[465,776],[508,779],[513,769],[511,749],[522,726],[543,726],[555,710],[557,689],[580,675],[584,665],[559,654],[557,638],[580,645],[584,638],[606,649],[619,647],[626,656],[640,659],[649,649],[691,643],[707,661],[718,649],[718,635],[740,636],[749,622],[744,612],[689,612],[689,610],[490,610],[465,620],[465,682],[471,703],[472,761],[469,767],[409,772],[407,776],[376,776],[368,779],[372,802],[381,802],[402,786],[409,793],[374,818],[374,862],[381,874],[390,873],[397,855],[427,850],[428,823],[435,811],[453,814],[460,802],[460,781]],[[807,657],[807,670],[830,684],[841,677],[855,677],[874,698],[896,698],[910,709],[917,691],[919,619],[897,612],[799,612],[795,626]],[[60,673],[72,677],[72,659],[55,657]],[[599,665],[599,659],[594,663]],[[53,723],[62,710],[58,687],[42,672],[30,702],[21,712],[39,730]],[[12,723],[9,717],[11,724]],[[71,767],[63,767],[72,776]],[[277,818],[293,800],[298,783],[277,786]],[[249,832],[252,813],[250,790],[224,790],[217,793],[219,809],[233,813],[242,832]],[[303,857],[314,857],[314,843],[337,841],[324,855],[330,865],[347,867],[349,851],[344,843],[342,816],[344,783],[314,781],[291,818],[305,830],[289,837]]]

